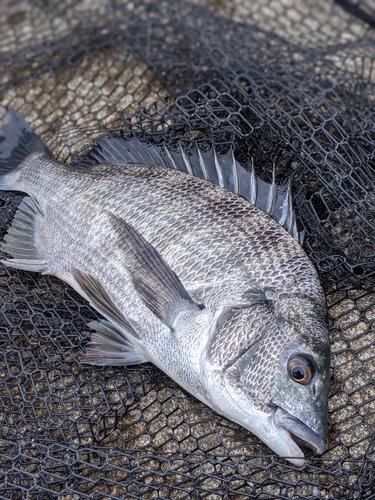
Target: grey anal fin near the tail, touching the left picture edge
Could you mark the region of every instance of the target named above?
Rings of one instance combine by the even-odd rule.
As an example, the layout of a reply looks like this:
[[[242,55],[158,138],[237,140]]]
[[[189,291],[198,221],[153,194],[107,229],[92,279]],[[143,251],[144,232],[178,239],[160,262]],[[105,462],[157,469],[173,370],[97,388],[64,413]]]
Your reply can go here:
[[[32,198],[24,198],[1,245],[1,250],[13,259],[4,259],[3,264],[26,271],[48,272],[48,263],[38,254],[34,243],[38,217],[43,217],[38,203]]]

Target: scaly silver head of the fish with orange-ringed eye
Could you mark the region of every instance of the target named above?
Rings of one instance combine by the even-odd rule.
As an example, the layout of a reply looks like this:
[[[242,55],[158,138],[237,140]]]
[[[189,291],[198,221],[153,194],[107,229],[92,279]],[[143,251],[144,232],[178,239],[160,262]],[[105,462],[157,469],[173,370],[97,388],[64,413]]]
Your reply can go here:
[[[220,325],[207,351],[206,370],[211,373],[206,383],[212,381],[209,391],[217,411],[302,466],[299,445],[319,454],[325,450],[326,321],[317,315],[291,322],[259,309],[234,311]]]

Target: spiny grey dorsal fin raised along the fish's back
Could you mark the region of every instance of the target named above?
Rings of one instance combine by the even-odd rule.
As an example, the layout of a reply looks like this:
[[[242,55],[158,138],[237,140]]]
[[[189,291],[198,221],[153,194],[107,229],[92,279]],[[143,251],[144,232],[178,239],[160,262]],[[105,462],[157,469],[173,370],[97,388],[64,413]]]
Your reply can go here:
[[[275,175],[271,184],[262,181],[256,176],[254,167],[249,171],[238,163],[232,149],[218,155],[214,148],[203,152],[195,146],[187,153],[182,147],[172,151],[166,146],[153,146],[138,139],[112,137],[99,142],[74,164],[85,167],[129,162],[180,170],[224,187],[271,215],[302,245],[304,233],[297,229],[290,182],[278,186]]]

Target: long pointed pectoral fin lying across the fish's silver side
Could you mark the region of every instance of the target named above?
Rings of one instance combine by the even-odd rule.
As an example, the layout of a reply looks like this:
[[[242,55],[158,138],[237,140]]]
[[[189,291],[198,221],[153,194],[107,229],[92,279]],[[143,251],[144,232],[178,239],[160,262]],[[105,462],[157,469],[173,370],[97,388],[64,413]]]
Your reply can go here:
[[[146,306],[172,329],[180,312],[200,310],[157,250],[130,224],[109,215],[119,234],[134,288]]]

